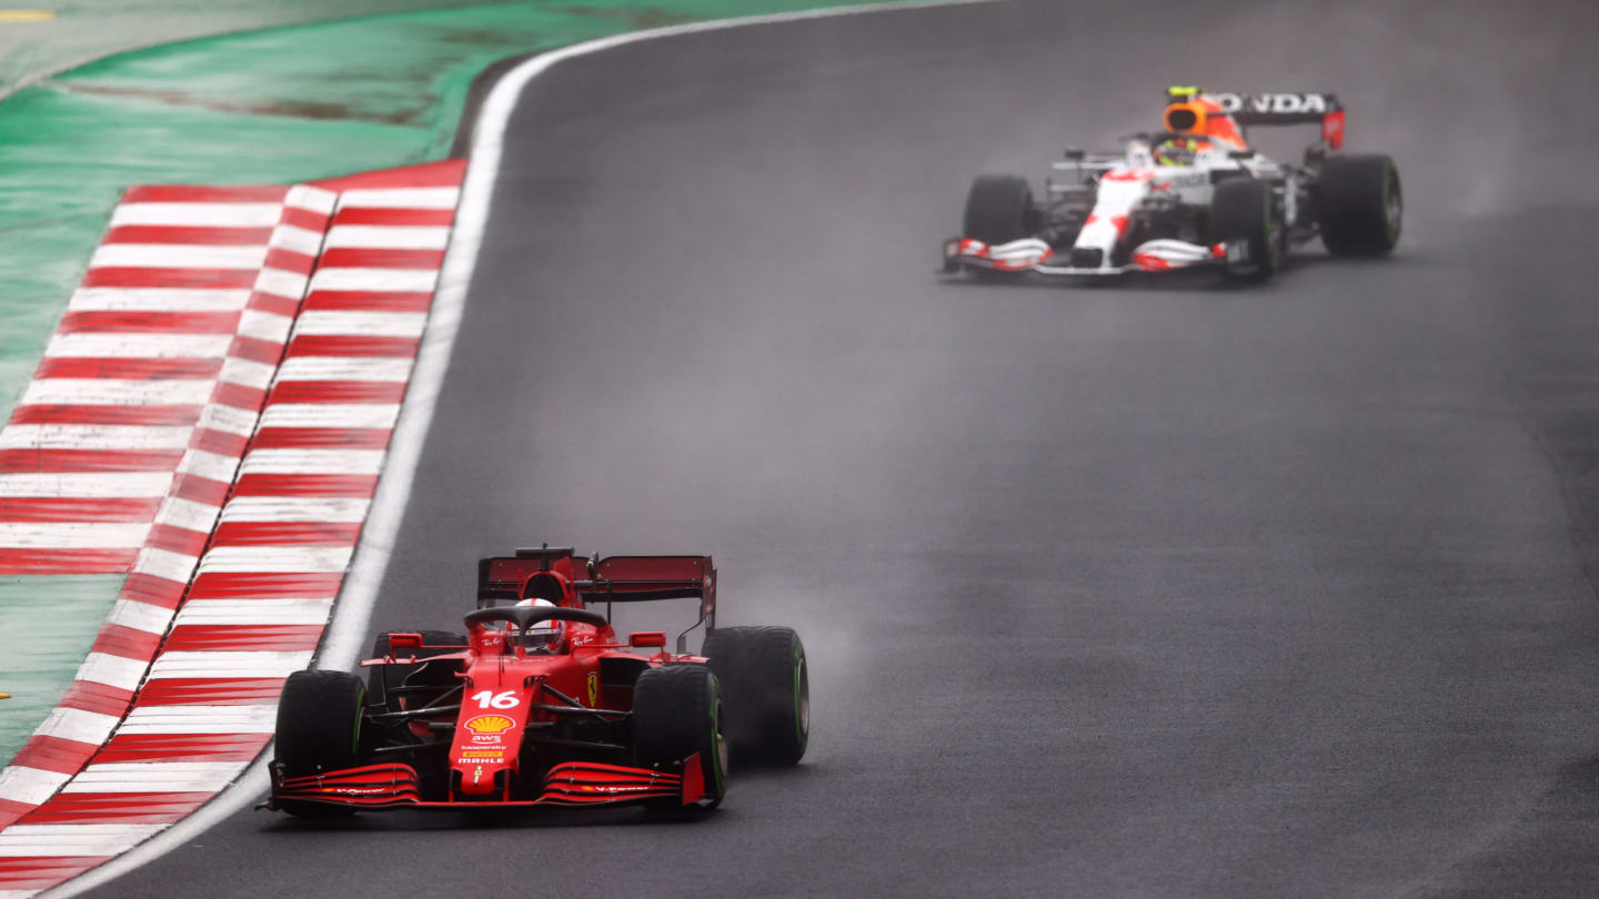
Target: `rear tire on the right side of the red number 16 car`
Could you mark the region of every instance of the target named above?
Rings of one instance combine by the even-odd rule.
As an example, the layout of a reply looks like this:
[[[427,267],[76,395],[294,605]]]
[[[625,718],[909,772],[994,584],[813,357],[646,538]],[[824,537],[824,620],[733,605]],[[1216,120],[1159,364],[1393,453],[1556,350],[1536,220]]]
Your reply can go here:
[[[804,643],[788,627],[721,627],[705,637],[732,709],[729,737],[740,765],[798,765],[811,742],[811,675]]]

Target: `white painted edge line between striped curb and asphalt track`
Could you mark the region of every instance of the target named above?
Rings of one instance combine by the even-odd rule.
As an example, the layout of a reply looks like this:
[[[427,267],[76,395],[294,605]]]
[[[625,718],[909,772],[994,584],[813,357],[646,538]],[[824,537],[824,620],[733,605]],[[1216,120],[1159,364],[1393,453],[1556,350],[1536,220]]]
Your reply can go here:
[[[389,461],[384,465],[384,477],[377,483],[377,494],[373,497],[373,510],[366,520],[366,526],[361,529],[361,542],[357,545],[355,561],[350,565],[344,587],[339,590],[333,622],[328,625],[328,632],[318,649],[317,667],[349,670],[366,640],[366,625],[371,621],[373,606],[377,603],[377,590],[382,587],[384,571],[389,568],[389,555],[393,550],[400,523],[405,518],[406,501],[411,497],[411,481],[416,478],[416,465],[422,457],[422,445],[429,427],[433,424],[433,408],[438,403],[445,373],[449,368],[456,333],[461,330],[461,317],[467,304],[467,286],[472,283],[472,272],[477,267],[478,248],[483,243],[489,203],[494,197],[494,182],[499,179],[505,125],[528,83],[566,59],[603,53],[643,40],[744,26],[995,2],[1001,0],[913,0],[691,22],[574,43],[552,50],[550,53],[540,53],[507,72],[494,85],[494,90],[489,91],[483,109],[478,112],[477,130],[472,134],[472,162],[467,166],[467,181],[461,189],[461,206],[456,213],[454,235],[449,242],[449,251],[445,254],[438,293],[433,298],[427,331],[422,336],[422,346],[416,358],[416,371],[411,376],[405,406],[389,445]],[[270,752],[270,747],[267,752]],[[130,870],[165,856],[224,819],[243,811],[267,792],[267,752],[262,752],[233,785],[217,793],[216,798],[189,817],[98,869],[58,886],[48,896],[66,899],[109,883]]]

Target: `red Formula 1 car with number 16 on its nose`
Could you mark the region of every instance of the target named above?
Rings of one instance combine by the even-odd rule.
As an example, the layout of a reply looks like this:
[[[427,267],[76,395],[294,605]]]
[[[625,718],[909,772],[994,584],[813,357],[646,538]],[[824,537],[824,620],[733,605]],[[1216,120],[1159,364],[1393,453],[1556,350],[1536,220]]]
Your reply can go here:
[[[659,630],[617,640],[611,603],[668,598],[697,598],[700,613],[675,653]],[[804,755],[804,646],[787,627],[716,629],[710,557],[516,550],[478,563],[477,605],[465,635],[379,635],[365,680],[289,675],[267,808],[713,808],[729,753]]]

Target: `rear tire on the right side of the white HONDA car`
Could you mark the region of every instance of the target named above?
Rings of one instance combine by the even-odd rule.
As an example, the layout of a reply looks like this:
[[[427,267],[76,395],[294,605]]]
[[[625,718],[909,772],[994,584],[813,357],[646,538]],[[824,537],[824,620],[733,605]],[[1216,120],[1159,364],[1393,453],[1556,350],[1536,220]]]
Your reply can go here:
[[[1334,256],[1386,256],[1399,245],[1404,190],[1382,154],[1334,155],[1316,178],[1316,224]]]

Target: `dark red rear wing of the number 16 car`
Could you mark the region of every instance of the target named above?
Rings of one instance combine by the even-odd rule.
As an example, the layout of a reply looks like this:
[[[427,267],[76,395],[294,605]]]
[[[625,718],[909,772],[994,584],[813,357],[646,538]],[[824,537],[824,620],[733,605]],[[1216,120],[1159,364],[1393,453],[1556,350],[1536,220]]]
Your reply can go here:
[[[528,581],[553,571],[572,582],[585,603],[699,600],[700,617],[716,622],[716,566],[708,555],[612,555],[590,558],[571,547],[518,549],[478,560],[478,608],[523,598]]]

